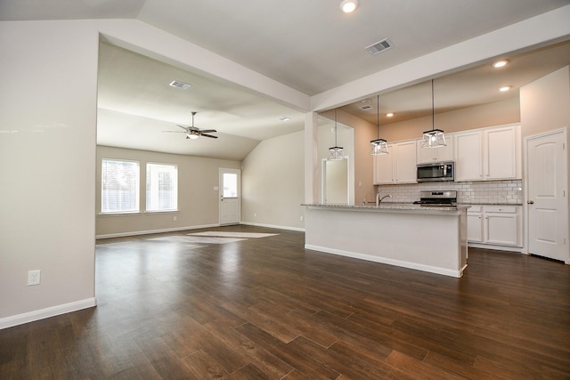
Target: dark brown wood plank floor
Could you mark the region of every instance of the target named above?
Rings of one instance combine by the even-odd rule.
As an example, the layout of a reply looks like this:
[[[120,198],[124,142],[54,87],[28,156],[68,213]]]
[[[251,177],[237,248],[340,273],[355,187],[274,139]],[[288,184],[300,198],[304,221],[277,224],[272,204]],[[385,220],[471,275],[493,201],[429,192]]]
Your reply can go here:
[[[0,378],[570,378],[568,265],[469,249],[453,279],[225,230],[279,235],[99,241],[98,306],[0,330]]]

